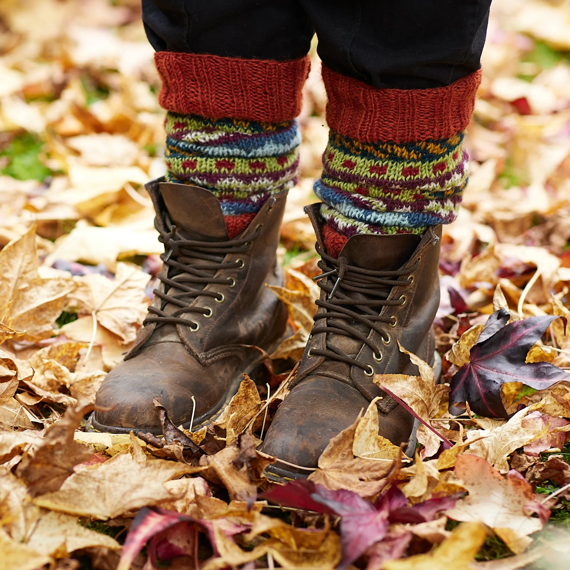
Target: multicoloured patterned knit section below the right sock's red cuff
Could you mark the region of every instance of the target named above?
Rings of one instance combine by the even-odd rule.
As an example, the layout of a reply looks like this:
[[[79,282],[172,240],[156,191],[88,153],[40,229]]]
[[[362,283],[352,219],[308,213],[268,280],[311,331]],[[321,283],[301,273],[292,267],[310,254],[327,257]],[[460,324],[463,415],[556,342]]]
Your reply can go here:
[[[335,231],[422,234],[453,222],[467,184],[464,133],[418,143],[360,143],[331,132],[314,185]]]

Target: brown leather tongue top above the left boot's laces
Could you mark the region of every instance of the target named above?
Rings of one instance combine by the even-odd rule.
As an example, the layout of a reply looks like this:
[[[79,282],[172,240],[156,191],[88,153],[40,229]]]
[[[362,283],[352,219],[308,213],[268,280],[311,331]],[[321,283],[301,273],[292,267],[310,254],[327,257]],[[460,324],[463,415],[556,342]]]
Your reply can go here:
[[[210,190],[161,182],[160,193],[168,215],[182,237],[211,242],[229,239],[218,198]]]

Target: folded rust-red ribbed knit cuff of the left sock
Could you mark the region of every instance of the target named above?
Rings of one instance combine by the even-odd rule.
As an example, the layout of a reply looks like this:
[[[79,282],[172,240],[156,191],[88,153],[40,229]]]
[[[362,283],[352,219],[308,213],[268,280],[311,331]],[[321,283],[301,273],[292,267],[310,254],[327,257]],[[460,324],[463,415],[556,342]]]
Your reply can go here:
[[[307,57],[278,62],[158,51],[161,107],[208,119],[282,123],[299,115]]]

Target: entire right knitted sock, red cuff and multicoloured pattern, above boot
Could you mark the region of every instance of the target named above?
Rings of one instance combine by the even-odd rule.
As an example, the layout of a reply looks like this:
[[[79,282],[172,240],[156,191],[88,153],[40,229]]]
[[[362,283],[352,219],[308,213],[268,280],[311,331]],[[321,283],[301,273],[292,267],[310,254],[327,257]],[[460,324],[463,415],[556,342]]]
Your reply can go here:
[[[329,253],[357,233],[423,234],[453,222],[479,72],[437,89],[374,89],[324,66],[323,79],[331,131],[314,191]]]

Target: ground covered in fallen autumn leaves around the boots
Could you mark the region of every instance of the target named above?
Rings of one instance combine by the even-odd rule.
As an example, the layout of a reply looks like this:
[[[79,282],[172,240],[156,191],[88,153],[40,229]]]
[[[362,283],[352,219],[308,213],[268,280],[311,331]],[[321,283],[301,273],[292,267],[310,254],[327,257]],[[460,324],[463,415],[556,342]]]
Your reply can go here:
[[[495,0],[446,226],[435,321],[443,384],[374,380],[416,416],[405,457],[376,402],[308,478],[258,451],[318,295],[314,201],[327,140],[312,48],[301,180],[279,255],[292,336],[193,433],[86,430],[161,262],[143,185],[164,112],[138,0],[0,2],[0,566],[563,568],[570,538],[570,8]],[[401,347],[406,352],[406,347]],[[453,412],[452,413],[450,413]]]

